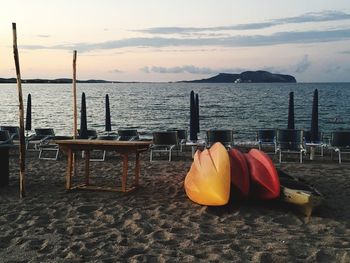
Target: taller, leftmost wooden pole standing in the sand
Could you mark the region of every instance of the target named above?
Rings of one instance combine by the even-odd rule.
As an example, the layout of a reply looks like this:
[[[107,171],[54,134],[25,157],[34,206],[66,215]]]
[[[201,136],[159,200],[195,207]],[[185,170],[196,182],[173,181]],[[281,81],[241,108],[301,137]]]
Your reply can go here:
[[[25,196],[25,141],[24,141],[24,110],[23,110],[23,97],[22,97],[22,82],[21,82],[21,70],[19,67],[19,55],[17,48],[17,31],[16,23],[12,23],[13,33],[13,54],[16,66],[17,75],[17,90],[19,101],[19,196],[20,198]]]

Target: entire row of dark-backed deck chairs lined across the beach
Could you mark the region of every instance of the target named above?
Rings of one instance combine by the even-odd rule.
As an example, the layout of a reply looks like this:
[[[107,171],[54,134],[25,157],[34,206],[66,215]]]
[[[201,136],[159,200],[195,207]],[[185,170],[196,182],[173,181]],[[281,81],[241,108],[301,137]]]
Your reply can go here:
[[[0,126],[0,138],[2,141],[18,140],[19,128],[15,126]],[[303,162],[303,156],[306,154],[308,147],[316,147],[320,149],[323,156],[324,148],[331,150],[331,153],[338,154],[338,161],[341,163],[342,154],[350,153],[350,131],[339,130],[331,134],[329,142],[325,142],[323,134],[319,133],[320,140],[311,142],[310,132],[303,130],[290,129],[261,129],[257,131],[257,143],[259,149],[265,150],[265,147],[271,146],[273,153],[278,154],[279,162],[282,162],[284,154],[298,154],[300,163]],[[51,128],[35,129],[35,134],[26,137],[26,149],[39,151],[40,159],[56,160],[58,158],[59,149],[54,140],[70,139],[67,136],[56,136]],[[80,135],[78,138],[82,138]],[[98,136],[96,130],[88,130],[85,139],[101,139],[101,140],[120,140],[132,141],[139,140],[139,134],[136,129],[120,129],[117,134],[105,134]],[[0,140],[1,141],[1,140]],[[154,132],[153,144],[150,146],[150,161],[153,161],[155,154],[168,154],[168,160],[171,161],[174,150],[183,151],[183,147],[187,144],[187,131],[185,129],[169,129],[167,131]],[[206,138],[202,145],[210,147],[215,142],[221,142],[226,148],[234,146],[233,130],[208,130]],[[53,157],[44,156],[44,152],[50,151],[54,153]],[[105,152],[102,158],[94,159],[95,161],[105,159]]]

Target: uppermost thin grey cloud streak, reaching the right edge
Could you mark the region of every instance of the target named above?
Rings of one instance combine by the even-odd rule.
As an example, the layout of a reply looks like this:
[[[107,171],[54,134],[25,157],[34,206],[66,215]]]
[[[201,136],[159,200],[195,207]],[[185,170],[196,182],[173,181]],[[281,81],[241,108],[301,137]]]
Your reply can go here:
[[[272,19],[261,23],[247,23],[238,24],[232,26],[218,26],[218,27],[152,27],[146,29],[134,30],[142,33],[149,34],[189,34],[199,33],[205,31],[228,31],[228,30],[257,30],[265,29],[273,26],[284,24],[299,24],[308,22],[327,22],[327,21],[339,21],[349,20],[350,14],[342,11],[327,10],[322,12],[305,13],[299,16],[286,17],[279,19]]]

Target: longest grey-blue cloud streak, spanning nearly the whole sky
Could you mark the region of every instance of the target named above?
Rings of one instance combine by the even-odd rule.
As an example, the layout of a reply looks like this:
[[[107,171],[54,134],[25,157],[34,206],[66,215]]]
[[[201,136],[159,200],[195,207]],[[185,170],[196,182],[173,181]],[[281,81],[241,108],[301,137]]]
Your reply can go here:
[[[109,50],[126,47],[146,47],[162,48],[174,46],[187,47],[254,47],[269,46],[280,44],[305,44],[305,43],[322,43],[331,41],[340,41],[350,39],[350,29],[338,30],[310,30],[310,31],[289,31],[278,32],[271,35],[239,35],[230,37],[217,38],[126,38],[112,40],[101,43],[76,43],[62,44],[55,46],[42,45],[22,45],[23,49],[61,49],[61,50],[78,50],[79,52],[88,52],[92,50]]]

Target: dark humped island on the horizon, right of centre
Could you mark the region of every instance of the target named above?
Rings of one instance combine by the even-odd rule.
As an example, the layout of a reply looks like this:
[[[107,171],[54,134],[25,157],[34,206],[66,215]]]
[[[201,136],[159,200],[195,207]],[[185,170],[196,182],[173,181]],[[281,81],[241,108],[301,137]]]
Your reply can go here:
[[[296,83],[291,75],[275,74],[268,71],[244,71],[240,74],[219,73],[218,75],[199,80],[184,80],[185,83],[274,83],[289,82]]]

